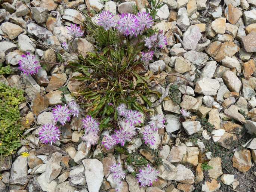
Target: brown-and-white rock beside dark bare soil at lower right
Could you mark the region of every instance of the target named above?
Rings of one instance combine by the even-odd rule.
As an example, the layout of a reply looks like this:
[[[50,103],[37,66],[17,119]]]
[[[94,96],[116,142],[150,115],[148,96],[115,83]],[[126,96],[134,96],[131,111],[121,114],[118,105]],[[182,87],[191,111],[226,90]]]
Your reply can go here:
[[[233,167],[237,168],[238,171],[246,173],[252,167],[251,153],[247,149],[236,151],[233,158]]]

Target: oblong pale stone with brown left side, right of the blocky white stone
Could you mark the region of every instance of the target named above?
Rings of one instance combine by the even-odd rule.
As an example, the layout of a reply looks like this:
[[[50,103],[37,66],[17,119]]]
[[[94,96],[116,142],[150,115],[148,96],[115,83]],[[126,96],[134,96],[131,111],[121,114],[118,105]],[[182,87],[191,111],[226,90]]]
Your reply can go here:
[[[226,71],[222,76],[223,81],[231,92],[240,92],[242,83],[238,77],[231,71]]]

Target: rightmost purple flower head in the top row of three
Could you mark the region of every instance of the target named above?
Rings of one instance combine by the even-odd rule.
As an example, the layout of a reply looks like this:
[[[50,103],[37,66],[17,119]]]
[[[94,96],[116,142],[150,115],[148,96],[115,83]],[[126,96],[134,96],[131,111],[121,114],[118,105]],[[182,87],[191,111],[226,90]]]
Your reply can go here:
[[[137,27],[140,31],[144,31],[145,28],[151,28],[153,26],[153,19],[149,15],[149,13],[144,12],[139,12],[137,16],[135,17]]]

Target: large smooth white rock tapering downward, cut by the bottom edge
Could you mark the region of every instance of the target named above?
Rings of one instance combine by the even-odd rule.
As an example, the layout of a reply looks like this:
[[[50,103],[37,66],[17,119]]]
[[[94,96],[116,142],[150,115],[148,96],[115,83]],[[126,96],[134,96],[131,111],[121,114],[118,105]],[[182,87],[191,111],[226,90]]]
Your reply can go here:
[[[83,160],[86,183],[89,192],[99,192],[103,181],[103,164],[97,159]]]

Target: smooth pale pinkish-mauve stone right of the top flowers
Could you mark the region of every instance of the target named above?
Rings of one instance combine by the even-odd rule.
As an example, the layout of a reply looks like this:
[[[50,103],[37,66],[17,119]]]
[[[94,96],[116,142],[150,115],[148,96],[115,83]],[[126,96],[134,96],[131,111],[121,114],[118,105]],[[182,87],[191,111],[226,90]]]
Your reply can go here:
[[[201,39],[202,34],[200,28],[197,26],[191,26],[183,34],[183,48],[186,50],[195,50],[198,41]]]

